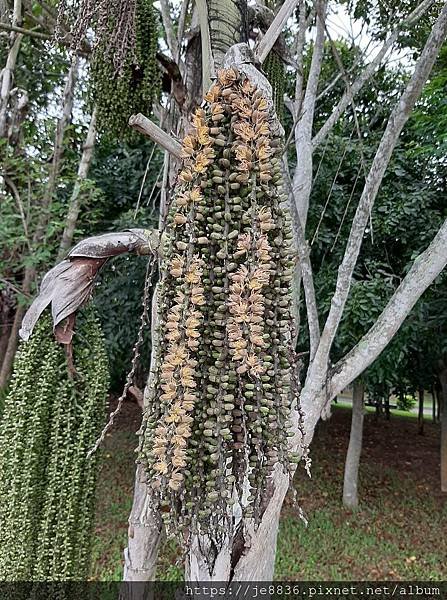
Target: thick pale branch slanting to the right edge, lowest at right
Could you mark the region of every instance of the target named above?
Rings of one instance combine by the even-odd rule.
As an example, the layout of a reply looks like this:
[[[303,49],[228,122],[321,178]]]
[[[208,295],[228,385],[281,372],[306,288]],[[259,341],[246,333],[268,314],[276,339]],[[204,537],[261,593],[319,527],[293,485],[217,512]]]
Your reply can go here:
[[[330,371],[328,401],[358,377],[394,337],[418,299],[447,265],[447,220],[408,271],[382,314]]]

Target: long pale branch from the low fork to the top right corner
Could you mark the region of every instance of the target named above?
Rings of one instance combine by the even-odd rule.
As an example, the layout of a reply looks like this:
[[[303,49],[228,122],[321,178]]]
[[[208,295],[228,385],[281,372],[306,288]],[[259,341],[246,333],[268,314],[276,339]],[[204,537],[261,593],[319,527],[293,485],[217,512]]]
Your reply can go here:
[[[320,344],[314,364],[309,367],[308,378],[312,378],[314,370],[321,372],[327,364],[332,342],[335,338],[343,309],[348,298],[352,274],[360,252],[366,224],[371,213],[377,192],[382,183],[391,154],[396,146],[400,132],[407,122],[411,111],[419,98],[424,83],[436,60],[447,32],[447,4],[433,26],[422,54],[416,64],[413,75],[408,82],[399,102],[394,107],[377,149],[373,164],[366,178],[357,211],[355,213],[345,254],[338,271],[335,292],[331,300],[331,308],[321,335]]]

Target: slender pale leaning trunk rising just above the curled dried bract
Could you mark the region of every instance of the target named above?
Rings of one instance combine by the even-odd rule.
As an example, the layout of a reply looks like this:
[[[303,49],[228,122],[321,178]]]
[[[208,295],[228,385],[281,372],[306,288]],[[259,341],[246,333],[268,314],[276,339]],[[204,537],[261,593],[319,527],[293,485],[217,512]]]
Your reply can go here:
[[[96,136],[96,110],[93,111],[90,119],[90,125],[87,132],[84,148],[82,151],[81,161],[79,163],[78,175],[76,182],[73,187],[70,202],[68,205],[68,213],[65,220],[65,229],[62,234],[62,240],[59,247],[59,254],[57,260],[60,261],[64,258],[65,254],[69,250],[73,243],[73,236],[76,229],[76,223],[78,222],[79,212],[81,210],[81,190],[82,184],[87,179],[90,165],[93,158],[93,149],[95,146]]]

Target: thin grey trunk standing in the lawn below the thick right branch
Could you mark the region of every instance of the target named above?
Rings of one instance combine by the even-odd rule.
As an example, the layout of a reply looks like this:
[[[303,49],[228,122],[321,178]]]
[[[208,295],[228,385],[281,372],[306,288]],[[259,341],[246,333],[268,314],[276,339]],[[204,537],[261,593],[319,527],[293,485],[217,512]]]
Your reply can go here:
[[[343,504],[351,510],[356,509],[359,505],[358,479],[363,441],[364,397],[365,388],[363,382],[356,379],[352,393],[351,434],[349,437],[348,453],[346,454],[343,481]]]

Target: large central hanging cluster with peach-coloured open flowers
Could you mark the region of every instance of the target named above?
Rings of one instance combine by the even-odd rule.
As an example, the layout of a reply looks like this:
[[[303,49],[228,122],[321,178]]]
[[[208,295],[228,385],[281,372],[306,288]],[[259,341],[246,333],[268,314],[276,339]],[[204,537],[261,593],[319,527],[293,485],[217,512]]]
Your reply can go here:
[[[183,140],[139,448],[168,531],[216,543],[235,504],[259,522],[273,468],[290,466],[296,257],[281,153],[271,102],[219,71]]]

